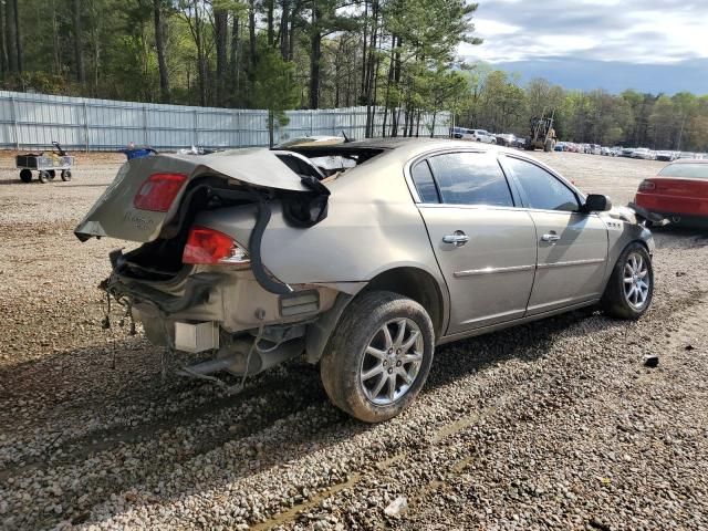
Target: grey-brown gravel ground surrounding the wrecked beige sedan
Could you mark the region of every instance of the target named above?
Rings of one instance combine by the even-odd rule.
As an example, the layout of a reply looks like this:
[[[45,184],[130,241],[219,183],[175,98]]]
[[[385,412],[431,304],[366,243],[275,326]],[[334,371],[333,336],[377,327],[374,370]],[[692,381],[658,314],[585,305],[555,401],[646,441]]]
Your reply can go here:
[[[537,155],[615,204],[663,165]],[[416,404],[365,426],[302,362],[229,396],[163,383],[119,315],[102,330],[121,243],[72,229],[121,157],[23,185],[0,156],[0,529],[708,528],[707,238],[657,235],[639,322],[574,313],[441,347]]]

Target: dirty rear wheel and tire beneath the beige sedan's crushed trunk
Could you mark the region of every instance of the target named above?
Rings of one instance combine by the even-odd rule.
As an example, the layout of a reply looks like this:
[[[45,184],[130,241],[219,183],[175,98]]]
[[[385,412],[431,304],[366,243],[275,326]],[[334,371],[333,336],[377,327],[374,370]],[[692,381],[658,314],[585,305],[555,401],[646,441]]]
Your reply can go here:
[[[387,291],[364,293],[332,333],[322,383],[332,403],[354,418],[388,420],[420,392],[434,348],[433,322],[420,304]]]

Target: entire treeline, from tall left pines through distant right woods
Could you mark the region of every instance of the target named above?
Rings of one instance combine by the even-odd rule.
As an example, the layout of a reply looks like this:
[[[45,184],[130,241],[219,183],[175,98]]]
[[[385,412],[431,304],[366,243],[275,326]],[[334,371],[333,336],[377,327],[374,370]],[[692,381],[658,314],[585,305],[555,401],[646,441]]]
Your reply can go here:
[[[708,96],[565,91],[456,59],[465,0],[2,0],[0,86],[238,108],[366,106],[367,136],[425,134],[421,113],[525,135],[555,110],[562,139],[708,149]],[[374,113],[383,113],[374,131]],[[381,116],[379,116],[381,118]],[[451,124],[450,124],[451,125]]]

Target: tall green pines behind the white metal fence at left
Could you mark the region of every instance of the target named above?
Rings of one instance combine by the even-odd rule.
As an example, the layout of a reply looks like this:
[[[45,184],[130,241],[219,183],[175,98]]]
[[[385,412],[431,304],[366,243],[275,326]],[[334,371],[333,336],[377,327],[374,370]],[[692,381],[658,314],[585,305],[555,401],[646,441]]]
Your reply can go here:
[[[368,135],[377,106],[394,135],[446,108],[465,85],[457,46],[478,42],[465,0],[19,3],[2,4],[6,88],[268,108],[281,123],[288,108],[364,105]]]

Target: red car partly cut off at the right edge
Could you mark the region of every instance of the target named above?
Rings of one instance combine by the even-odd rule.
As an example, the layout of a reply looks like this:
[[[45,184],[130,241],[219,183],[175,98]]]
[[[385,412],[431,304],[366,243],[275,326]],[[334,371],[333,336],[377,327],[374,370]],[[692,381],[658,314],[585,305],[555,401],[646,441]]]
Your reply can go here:
[[[673,162],[639,184],[634,202],[674,223],[708,222],[708,160]]]

